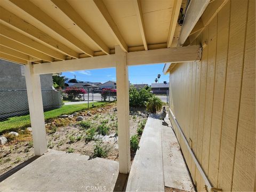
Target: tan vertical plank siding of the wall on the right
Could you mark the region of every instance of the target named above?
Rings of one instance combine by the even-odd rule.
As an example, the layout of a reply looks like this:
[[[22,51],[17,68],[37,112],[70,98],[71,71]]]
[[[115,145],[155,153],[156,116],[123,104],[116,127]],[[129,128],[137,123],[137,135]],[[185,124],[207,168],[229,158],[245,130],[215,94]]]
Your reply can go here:
[[[193,44],[202,60],[170,71],[172,111],[212,185],[255,190],[255,0],[231,0]],[[171,119],[197,190],[204,179]]]

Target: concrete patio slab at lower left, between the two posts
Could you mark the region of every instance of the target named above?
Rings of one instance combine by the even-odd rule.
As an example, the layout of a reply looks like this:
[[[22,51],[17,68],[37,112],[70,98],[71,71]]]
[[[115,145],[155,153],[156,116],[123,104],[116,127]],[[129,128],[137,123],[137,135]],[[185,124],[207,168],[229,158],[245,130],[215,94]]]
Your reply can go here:
[[[49,150],[0,183],[0,191],[113,191],[118,162]]]

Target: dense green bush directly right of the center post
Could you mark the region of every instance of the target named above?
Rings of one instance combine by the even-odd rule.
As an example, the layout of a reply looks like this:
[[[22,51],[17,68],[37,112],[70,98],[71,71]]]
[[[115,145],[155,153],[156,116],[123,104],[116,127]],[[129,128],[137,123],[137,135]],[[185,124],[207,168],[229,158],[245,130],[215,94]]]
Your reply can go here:
[[[153,93],[150,89],[142,88],[140,90],[135,89],[134,86],[129,90],[129,101],[131,107],[146,107],[146,102],[153,97]]]

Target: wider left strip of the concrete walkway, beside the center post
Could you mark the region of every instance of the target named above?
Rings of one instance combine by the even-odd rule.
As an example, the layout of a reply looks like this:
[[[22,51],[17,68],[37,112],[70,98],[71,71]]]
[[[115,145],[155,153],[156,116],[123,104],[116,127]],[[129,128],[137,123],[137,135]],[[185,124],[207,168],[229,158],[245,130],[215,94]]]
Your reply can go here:
[[[148,117],[126,191],[164,191],[161,124],[158,116]]]

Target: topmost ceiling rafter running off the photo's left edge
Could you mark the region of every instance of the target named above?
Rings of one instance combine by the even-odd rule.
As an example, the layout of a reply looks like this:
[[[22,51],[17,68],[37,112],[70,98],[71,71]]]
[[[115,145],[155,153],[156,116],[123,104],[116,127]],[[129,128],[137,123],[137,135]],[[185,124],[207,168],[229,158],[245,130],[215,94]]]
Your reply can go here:
[[[71,50],[68,46],[58,42],[51,36],[45,34],[43,31],[37,29],[30,23],[17,17],[17,15],[5,10],[1,6],[0,6],[0,19],[5,25],[12,28],[14,27],[17,30],[23,31],[23,33],[26,33],[26,35],[36,38],[39,42],[50,45],[52,49],[56,51],[60,51],[61,53],[67,54],[70,57],[73,57],[76,59],[79,58],[79,54]]]

